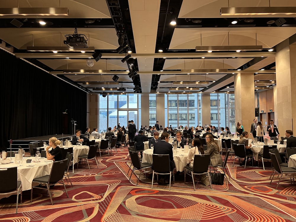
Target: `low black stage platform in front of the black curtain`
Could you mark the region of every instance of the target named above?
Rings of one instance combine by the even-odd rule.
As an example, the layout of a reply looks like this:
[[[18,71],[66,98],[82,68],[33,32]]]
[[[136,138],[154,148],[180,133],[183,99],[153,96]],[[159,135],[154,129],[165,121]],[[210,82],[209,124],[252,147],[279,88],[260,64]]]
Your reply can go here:
[[[23,149],[29,149],[29,143],[38,143],[38,142],[46,142],[48,144],[48,140],[51,137],[57,137],[57,139],[62,140],[68,139],[73,135],[63,135],[62,134],[55,134],[55,135],[49,135],[49,136],[37,136],[37,137],[30,137],[30,138],[24,138],[24,139],[15,139],[12,142],[12,149],[18,149],[18,146],[21,146]],[[7,141],[8,147],[9,147],[9,141]],[[9,148],[8,148],[9,149]]]

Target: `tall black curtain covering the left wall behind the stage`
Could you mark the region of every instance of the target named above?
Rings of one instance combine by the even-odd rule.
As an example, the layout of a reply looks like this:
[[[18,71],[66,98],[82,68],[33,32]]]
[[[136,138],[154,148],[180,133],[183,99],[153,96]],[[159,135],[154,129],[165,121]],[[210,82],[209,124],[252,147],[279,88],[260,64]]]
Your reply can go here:
[[[86,128],[86,92],[0,49],[1,144],[9,139],[62,134],[62,116],[67,109],[76,129]]]

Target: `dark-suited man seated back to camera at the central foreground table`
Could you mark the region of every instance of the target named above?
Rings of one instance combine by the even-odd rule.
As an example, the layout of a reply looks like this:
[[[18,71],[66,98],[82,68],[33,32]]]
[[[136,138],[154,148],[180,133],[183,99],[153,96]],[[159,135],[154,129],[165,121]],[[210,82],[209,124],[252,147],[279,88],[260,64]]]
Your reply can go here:
[[[170,157],[170,170],[173,171],[175,168],[174,157],[173,157],[173,146],[169,143],[170,134],[162,133],[160,136],[161,141],[154,144],[153,154],[169,154]],[[153,168],[153,164],[152,164]],[[163,175],[158,175],[158,184],[168,184],[168,178]]]

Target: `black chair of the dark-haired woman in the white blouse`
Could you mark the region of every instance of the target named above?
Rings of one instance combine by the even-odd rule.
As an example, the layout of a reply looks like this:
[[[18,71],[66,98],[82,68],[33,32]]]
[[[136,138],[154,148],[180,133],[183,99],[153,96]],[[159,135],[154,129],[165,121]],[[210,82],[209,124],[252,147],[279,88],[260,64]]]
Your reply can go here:
[[[153,162],[154,163],[154,162]],[[210,154],[194,155],[193,168],[186,166],[184,169],[184,184],[186,183],[186,174],[192,177],[193,188],[195,190],[194,175],[207,174],[212,189],[211,177],[209,174]]]

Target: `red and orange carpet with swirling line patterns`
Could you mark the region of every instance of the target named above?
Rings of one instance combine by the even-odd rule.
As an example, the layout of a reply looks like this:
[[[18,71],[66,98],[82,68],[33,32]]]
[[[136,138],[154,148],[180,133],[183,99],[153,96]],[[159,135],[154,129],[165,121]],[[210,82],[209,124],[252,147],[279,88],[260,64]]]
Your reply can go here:
[[[155,183],[152,176],[143,173],[138,186],[139,171],[131,176],[127,172],[130,160],[126,147],[118,154],[98,157],[99,168],[89,160],[91,169],[75,166],[70,173],[73,183],[66,185],[67,198],[62,185],[51,189],[54,205],[46,191],[24,191],[22,204],[15,214],[16,196],[0,200],[0,221],[296,221],[296,186],[284,178],[275,189],[277,180],[270,185],[270,163],[263,170],[248,166],[246,169],[233,159],[228,161],[223,185],[196,184],[184,173],[175,175],[175,183],[168,186]],[[269,164],[269,165],[268,165]],[[1,181],[3,183],[4,181]]]

